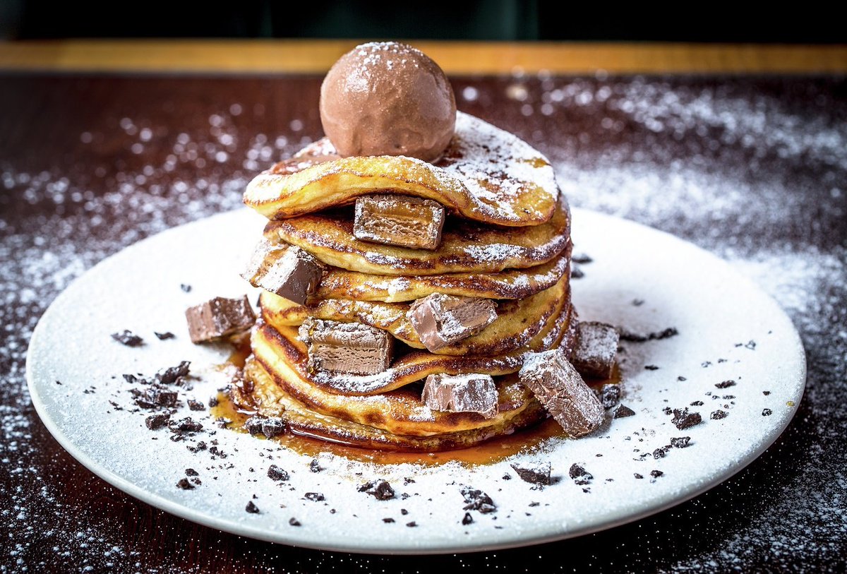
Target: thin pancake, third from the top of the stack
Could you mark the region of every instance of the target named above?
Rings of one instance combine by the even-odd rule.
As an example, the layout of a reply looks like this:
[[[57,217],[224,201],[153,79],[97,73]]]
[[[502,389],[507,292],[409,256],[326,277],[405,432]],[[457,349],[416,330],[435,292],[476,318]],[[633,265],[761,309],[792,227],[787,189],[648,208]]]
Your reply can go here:
[[[329,268],[314,299],[353,299],[395,303],[414,301],[433,293],[485,299],[523,299],[550,289],[568,273],[571,246],[550,262],[501,273],[441,275],[374,275]]]

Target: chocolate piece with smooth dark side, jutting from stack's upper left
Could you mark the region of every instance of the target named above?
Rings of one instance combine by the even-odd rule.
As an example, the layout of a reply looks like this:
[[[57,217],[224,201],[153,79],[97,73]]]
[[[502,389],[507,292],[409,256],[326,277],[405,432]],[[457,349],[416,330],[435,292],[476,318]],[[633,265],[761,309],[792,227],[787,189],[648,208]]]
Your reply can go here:
[[[315,292],[324,264],[300,247],[274,245],[263,239],[256,246],[241,277],[271,293],[302,305]]]

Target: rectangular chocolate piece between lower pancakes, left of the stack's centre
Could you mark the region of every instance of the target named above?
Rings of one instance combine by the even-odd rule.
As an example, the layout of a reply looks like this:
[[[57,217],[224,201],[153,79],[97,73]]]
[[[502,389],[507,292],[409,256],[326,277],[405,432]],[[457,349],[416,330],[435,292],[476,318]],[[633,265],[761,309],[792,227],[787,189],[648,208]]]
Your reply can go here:
[[[299,333],[308,346],[310,368],[374,375],[390,367],[394,339],[379,328],[307,317]]]

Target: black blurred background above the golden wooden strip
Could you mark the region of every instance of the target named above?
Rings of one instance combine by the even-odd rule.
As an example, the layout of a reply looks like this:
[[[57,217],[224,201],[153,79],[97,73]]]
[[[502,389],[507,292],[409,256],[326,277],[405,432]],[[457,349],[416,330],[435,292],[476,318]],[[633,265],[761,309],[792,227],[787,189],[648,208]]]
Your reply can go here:
[[[102,8],[106,6],[108,8]],[[844,43],[847,26],[821,8],[727,10],[712,3],[619,9],[545,0],[274,2],[0,0],[0,39],[418,38],[490,41]],[[743,12],[744,14],[739,14]]]

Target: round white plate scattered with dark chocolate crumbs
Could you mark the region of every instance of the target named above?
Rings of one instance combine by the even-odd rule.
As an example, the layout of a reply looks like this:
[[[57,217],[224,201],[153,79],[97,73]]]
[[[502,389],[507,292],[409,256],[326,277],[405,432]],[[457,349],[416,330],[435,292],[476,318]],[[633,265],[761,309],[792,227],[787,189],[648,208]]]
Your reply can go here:
[[[777,303],[748,279],[671,235],[574,209],[575,251],[594,259],[582,266],[584,278],[573,280],[580,317],[632,332],[668,327],[679,332],[669,339],[623,343],[623,404],[635,411],[633,417],[612,420],[584,439],[550,439],[540,450],[484,466],[379,466],[323,454],[318,462],[324,471],[309,472],[311,457],[217,429],[208,411],[187,407],[180,416],[194,416],[205,430],[188,443],[173,442],[167,429],[145,427],[147,412],[130,410],[133,385],[121,374],[152,375],[190,360],[199,380],[180,394],[182,403],[215,394],[222,382],[212,367],[224,362],[230,349],[191,345],[183,313],[214,295],[248,291],[238,272],[262,224],[252,212],[228,212],[109,257],[56,299],[30,342],[30,394],[58,442],[108,483],[210,527],[318,549],[397,554],[497,549],[579,536],[662,511],[739,472],[777,439],[803,393],[800,339]],[[193,289],[186,293],[180,284]],[[125,328],[146,344],[130,348],[110,338]],[[171,331],[176,338],[160,341],[154,331]],[[729,379],[736,384],[715,386]],[[690,406],[698,400],[704,404]],[[703,422],[675,428],[663,410],[684,406],[699,412]],[[717,410],[728,415],[711,420]],[[690,437],[688,448],[673,448],[662,458],[652,455],[682,436]],[[186,449],[197,440],[217,440],[226,458]],[[561,480],[540,489],[518,479],[509,466],[535,461],[551,462]],[[593,475],[589,485],[568,476],[574,463]],[[291,480],[268,478],[270,464],[290,472]],[[175,486],[186,468],[197,470],[202,480],[193,490]],[[651,476],[654,470],[662,476]],[[404,477],[414,482],[405,483]],[[377,478],[392,484],[395,499],[357,492],[360,483]],[[471,511],[474,522],[462,525],[462,485],[489,494],[497,511]],[[307,492],[325,499],[305,499]],[[259,513],[245,511],[251,500]],[[292,518],[300,526],[292,526]]]

